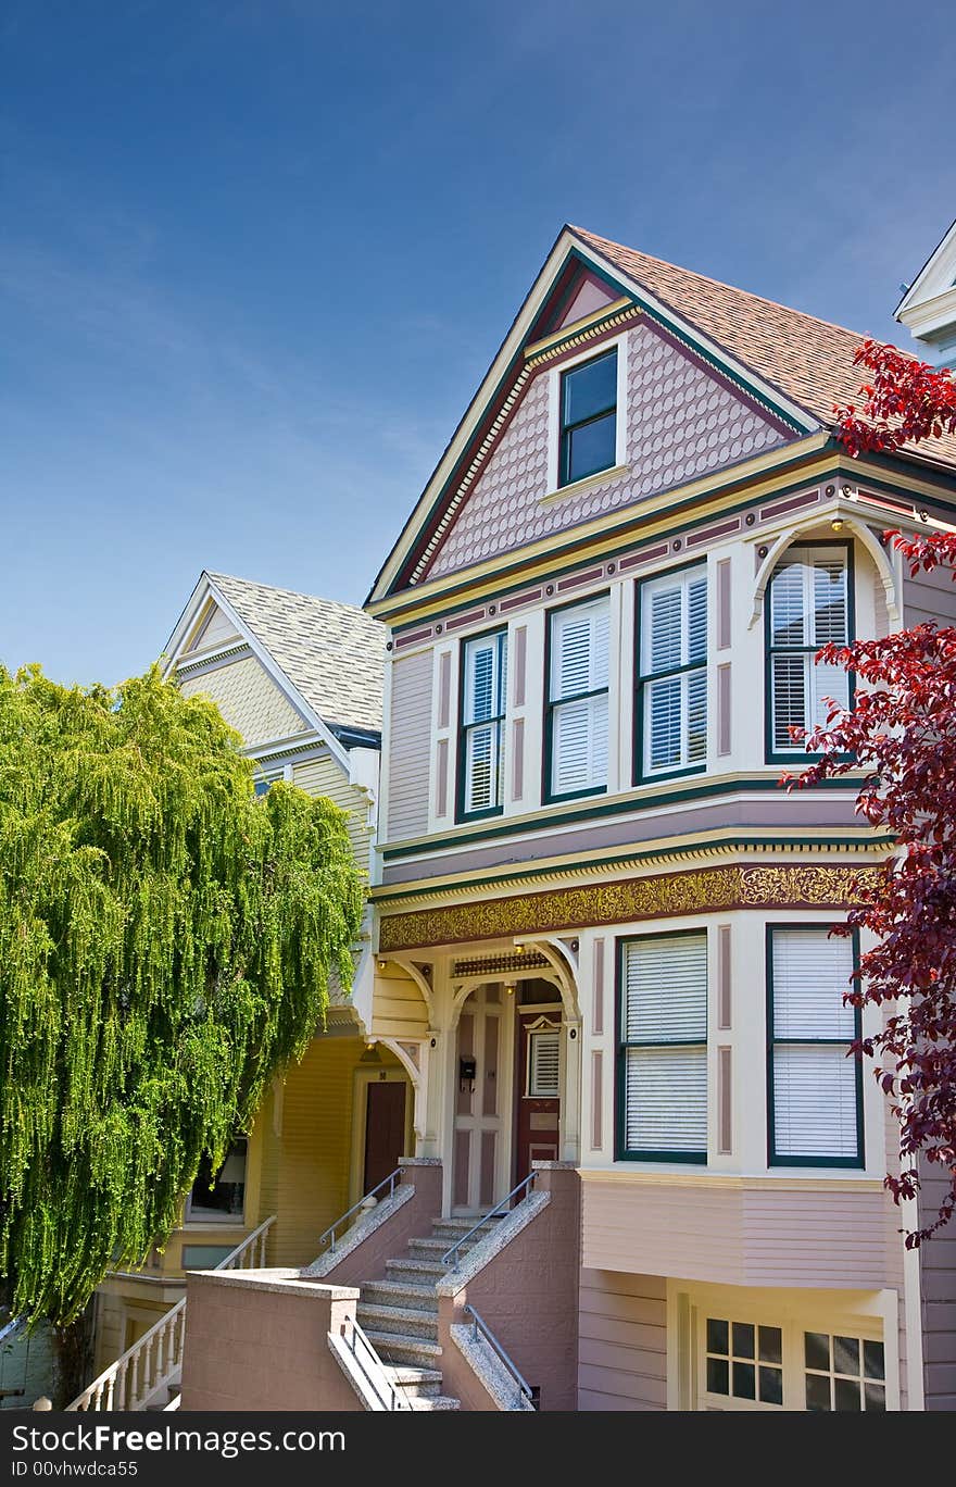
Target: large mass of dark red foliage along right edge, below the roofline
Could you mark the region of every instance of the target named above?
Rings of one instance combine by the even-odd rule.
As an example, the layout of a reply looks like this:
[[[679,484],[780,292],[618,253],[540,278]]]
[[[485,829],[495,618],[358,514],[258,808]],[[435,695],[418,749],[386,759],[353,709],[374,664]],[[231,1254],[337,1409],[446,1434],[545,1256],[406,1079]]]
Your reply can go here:
[[[913,574],[956,570],[956,535],[891,535]],[[879,641],[827,645],[818,659],[855,674],[853,709],[834,705],[825,729],[794,730],[822,757],[784,779],[792,790],[864,770],[856,810],[898,848],[876,889],[853,885],[858,906],[834,934],[858,926],[879,937],[861,956],[847,1001],[891,1004],[883,1030],[855,1045],[876,1057],[874,1075],[901,1126],[902,1170],[886,1187],[897,1201],[914,1197],[919,1158],[950,1179],[935,1221],[907,1233],[914,1248],[956,1209],[956,628],[929,622]]]

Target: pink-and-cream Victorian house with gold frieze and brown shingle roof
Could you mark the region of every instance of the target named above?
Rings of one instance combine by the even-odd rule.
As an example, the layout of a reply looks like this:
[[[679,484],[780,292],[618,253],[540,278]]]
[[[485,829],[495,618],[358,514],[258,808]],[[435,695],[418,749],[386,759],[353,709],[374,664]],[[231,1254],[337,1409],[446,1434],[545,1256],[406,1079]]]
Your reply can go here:
[[[416,1151],[450,1218],[534,1172],[580,1190],[581,1410],[956,1404],[953,1237],[904,1251],[846,1057],[861,946],[828,934],[891,845],[852,782],[779,784],[850,696],[825,641],[956,616],[883,538],[953,525],[956,440],[834,439],[861,339],[565,228],[367,604]],[[482,1312],[534,1381],[547,1282],[498,1276]]]

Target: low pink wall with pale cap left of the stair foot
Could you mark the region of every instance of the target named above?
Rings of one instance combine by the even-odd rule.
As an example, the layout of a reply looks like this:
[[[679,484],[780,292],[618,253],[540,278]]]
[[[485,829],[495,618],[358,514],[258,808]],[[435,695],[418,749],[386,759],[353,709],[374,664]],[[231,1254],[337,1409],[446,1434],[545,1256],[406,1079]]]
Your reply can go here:
[[[329,1332],[355,1316],[358,1292],[277,1271],[187,1277],[183,1404],[189,1410],[361,1410]]]

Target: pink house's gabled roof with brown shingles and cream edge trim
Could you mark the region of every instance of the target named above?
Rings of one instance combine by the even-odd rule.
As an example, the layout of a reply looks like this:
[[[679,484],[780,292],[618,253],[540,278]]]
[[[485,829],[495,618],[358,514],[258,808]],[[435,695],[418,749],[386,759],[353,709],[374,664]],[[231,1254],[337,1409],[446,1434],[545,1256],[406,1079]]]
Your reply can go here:
[[[583,228],[566,226],[366,602],[379,601],[407,581],[403,574],[415,553],[445,517],[446,491],[453,488],[459,471],[467,470],[476,449],[480,458],[479,446],[486,437],[495,399],[504,396],[501,390],[508,372],[520,361],[522,346],[541,324],[543,306],[575,253],[602,271],[621,294],[632,296],[635,303],[676,327],[688,343],[700,345],[730,373],[749,381],[758,397],[761,390],[769,399],[776,397],[781,412],[792,422],[795,439],[833,430],[834,406],[859,403],[864,372],[853,364],[853,352],[862,333],[788,309]],[[956,437],[926,439],[905,452],[956,465]]]

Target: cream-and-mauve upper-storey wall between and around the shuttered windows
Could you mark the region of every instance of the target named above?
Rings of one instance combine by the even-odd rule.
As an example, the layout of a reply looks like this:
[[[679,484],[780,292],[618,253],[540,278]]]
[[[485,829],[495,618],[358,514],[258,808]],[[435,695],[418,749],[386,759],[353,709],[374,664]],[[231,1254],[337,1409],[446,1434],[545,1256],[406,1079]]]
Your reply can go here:
[[[760,529],[763,541],[773,534]],[[708,574],[709,614],[709,744],[703,776],[718,779],[734,773],[766,775],[767,787],[775,790],[781,775],[779,763],[767,763],[764,749],[764,690],[766,690],[766,639],[764,619],[757,596],[758,570],[757,537],[752,540],[734,535],[714,543],[702,550],[696,561]],[[847,529],[837,537],[828,520],[806,526],[792,540],[840,543]],[[784,543],[772,547],[779,558],[789,534],[784,529]],[[873,556],[862,541],[852,543],[855,633],[879,636],[888,633],[889,617],[883,581],[877,574]],[[685,567],[688,555],[669,553],[657,562],[639,570],[639,580],[660,577],[668,571]],[[718,648],[718,564],[730,564],[730,644]],[[552,598],[547,604],[529,605],[511,617],[501,620],[508,632],[508,684],[504,720],[506,736],[506,788],[503,816],[537,813],[529,828],[537,833],[547,825],[553,807],[544,801],[544,712],[546,712],[546,635],[550,610],[558,604],[587,602],[599,593],[610,602],[610,663],[608,663],[608,712],[613,720],[608,757],[608,788],[598,799],[604,806],[613,799],[630,797],[636,810],[659,804],[660,785],[656,781],[632,785],[632,739],[635,699],[635,629],[638,622],[639,584],[633,570],[613,577],[602,575],[601,564],[595,564],[596,577],[575,586],[572,595],[561,601]],[[494,626],[486,613],[482,620],[462,626],[455,639],[448,635],[439,641],[425,642],[421,650],[409,647],[397,660],[390,662],[391,674],[391,721],[387,730],[388,751],[388,810],[384,843],[415,839],[425,834],[448,836],[461,833],[455,824],[455,787],[458,776],[458,712],[459,712],[459,657],[465,641],[485,633]],[[523,633],[522,633],[523,632]],[[514,665],[517,648],[525,653],[523,687],[519,693],[519,668]],[[723,680],[718,681],[718,668]],[[720,696],[724,687],[729,717],[724,732],[729,733],[729,748],[721,752],[718,736]],[[445,699],[448,697],[448,706]],[[445,717],[443,717],[445,712]],[[794,755],[795,764],[800,755]],[[696,776],[694,776],[696,778]],[[666,784],[668,776],[663,776]],[[681,781],[678,781],[681,784]],[[513,839],[520,842],[520,837]],[[461,836],[467,846],[467,836]],[[561,833],[555,837],[555,851],[561,851]],[[448,861],[448,858],[446,858]]]

